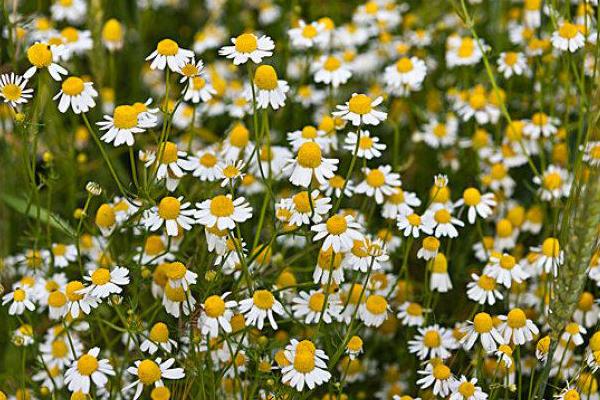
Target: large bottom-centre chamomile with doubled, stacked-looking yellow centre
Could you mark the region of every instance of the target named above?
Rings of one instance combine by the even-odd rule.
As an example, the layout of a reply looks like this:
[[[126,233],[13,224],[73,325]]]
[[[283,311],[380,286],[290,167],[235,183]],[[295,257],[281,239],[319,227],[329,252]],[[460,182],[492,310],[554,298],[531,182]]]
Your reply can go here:
[[[329,357],[310,340],[298,342],[292,339],[284,355],[286,363],[281,369],[281,380],[297,391],[302,391],[304,386],[312,390],[331,379],[326,364]]]

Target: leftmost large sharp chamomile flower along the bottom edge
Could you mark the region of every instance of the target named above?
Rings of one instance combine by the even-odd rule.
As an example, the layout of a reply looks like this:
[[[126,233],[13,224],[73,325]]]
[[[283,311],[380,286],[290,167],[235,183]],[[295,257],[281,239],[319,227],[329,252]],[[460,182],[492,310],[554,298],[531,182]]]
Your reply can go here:
[[[94,347],[80,356],[65,371],[65,384],[71,392],[90,393],[91,383],[103,388],[108,383],[107,375],[114,376],[115,370],[107,359],[98,359],[100,348]]]

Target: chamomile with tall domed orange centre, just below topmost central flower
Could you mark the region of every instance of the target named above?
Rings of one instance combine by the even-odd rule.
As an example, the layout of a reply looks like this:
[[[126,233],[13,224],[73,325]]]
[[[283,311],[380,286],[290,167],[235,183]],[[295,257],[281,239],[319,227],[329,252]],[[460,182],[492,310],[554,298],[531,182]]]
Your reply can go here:
[[[286,81],[277,78],[275,68],[270,65],[260,65],[254,72],[253,93],[250,88],[246,89],[246,99],[256,99],[256,107],[277,110],[285,105],[285,94],[290,90]]]

